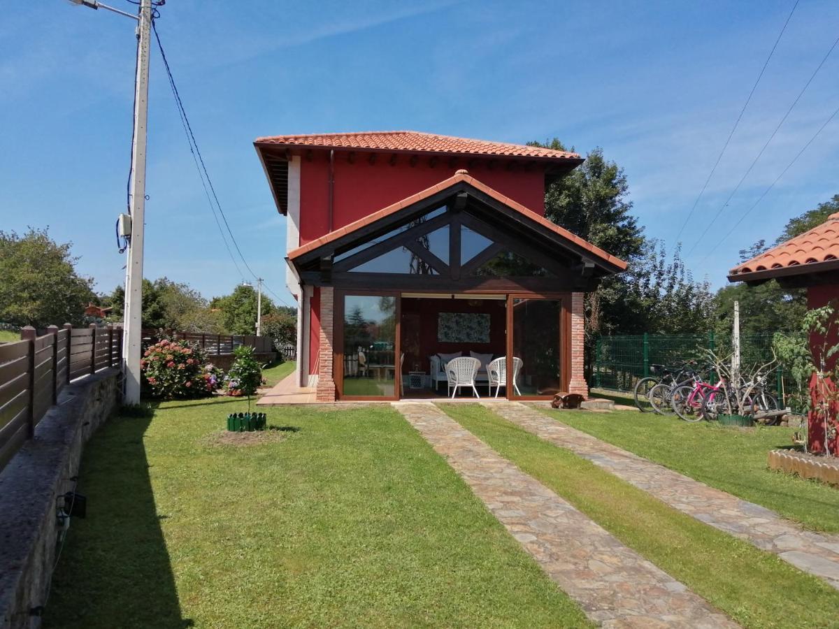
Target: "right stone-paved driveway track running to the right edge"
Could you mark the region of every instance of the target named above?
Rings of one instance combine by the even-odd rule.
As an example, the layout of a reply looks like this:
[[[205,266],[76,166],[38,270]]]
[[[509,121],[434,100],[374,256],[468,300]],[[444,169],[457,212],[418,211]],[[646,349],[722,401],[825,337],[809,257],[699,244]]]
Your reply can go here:
[[[774,511],[607,444],[535,408],[521,403],[483,405],[530,433],[648,491],[670,507],[777,554],[839,590],[839,536],[805,531]]]

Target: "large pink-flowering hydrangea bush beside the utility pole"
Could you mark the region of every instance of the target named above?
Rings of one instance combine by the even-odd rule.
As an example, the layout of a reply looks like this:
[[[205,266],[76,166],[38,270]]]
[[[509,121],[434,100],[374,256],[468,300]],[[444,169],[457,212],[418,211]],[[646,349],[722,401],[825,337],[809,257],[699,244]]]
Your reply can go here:
[[[143,385],[153,398],[202,398],[221,387],[219,370],[206,365],[197,346],[161,340],[143,352]]]

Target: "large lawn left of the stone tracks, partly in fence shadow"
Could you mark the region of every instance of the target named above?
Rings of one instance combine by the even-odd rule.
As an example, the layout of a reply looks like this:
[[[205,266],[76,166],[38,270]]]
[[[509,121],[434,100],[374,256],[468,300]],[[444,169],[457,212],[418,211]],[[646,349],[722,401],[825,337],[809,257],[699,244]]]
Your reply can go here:
[[[246,406],[94,435],[46,626],[588,626],[393,408],[269,408],[286,439],[208,442]]]

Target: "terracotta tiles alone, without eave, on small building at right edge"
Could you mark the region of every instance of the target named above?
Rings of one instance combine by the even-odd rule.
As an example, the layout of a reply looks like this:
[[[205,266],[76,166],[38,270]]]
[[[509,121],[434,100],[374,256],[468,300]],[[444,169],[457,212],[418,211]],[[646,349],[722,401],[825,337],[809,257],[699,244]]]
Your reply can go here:
[[[805,231],[751,260],[738,264],[728,274],[733,276],[757,273],[773,268],[795,267],[836,259],[839,259],[839,212],[831,214],[827,221],[810,231]]]

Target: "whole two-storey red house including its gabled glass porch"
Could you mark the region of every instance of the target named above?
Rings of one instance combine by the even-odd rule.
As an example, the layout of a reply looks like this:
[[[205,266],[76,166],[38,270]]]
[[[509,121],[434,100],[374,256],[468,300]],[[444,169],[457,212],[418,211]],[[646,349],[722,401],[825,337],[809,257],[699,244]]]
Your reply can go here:
[[[318,401],[446,395],[463,363],[472,395],[587,393],[583,294],[626,263],[545,219],[545,185],[579,155],[409,131],[254,146]]]

